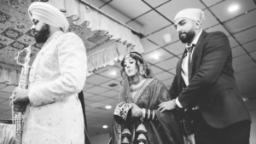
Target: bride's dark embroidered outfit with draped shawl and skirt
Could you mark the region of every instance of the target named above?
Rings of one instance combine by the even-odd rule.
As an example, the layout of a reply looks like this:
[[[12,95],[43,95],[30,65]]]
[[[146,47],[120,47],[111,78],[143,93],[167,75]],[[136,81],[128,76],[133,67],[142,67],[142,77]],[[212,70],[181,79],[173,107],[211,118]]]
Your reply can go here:
[[[127,82],[125,72],[123,77]],[[145,78],[137,85],[137,89],[131,89],[129,83],[123,85],[114,111],[112,144],[182,144],[177,110],[157,110],[161,102],[172,100],[166,86],[154,78]],[[131,117],[132,103],[144,108],[142,117]]]

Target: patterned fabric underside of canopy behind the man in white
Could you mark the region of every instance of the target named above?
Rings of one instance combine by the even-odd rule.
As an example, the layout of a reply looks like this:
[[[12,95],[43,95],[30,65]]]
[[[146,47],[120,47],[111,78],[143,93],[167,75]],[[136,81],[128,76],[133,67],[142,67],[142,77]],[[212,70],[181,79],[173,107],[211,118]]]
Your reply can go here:
[[[15,54],[18,50],[32,45],[32,57],[38,54],[44,43],[36,43],[32,32],[32,22],[27,14],[31,0],[0,0],[0,61],[15,65]],[[74,32],[82,38],[87,51],[108,43],[105,32],[91,32],[86,27],[86,22],[80,26],[72,23],[72,18],[67,18],[70,23],[68,32]]]

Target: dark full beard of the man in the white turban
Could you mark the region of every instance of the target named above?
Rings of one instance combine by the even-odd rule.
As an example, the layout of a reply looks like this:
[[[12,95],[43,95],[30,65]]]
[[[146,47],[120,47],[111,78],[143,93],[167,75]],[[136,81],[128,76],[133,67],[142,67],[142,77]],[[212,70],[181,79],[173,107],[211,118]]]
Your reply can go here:
[[[45,43],[49,37],[49,25],[45,24],[41,30],[35,31],[35,40],[37,43]]]

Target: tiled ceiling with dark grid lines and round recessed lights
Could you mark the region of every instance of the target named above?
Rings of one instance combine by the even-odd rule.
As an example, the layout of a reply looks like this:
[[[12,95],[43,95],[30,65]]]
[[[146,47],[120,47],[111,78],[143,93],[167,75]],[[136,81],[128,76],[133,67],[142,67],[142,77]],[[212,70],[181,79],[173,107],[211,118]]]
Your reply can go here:
[[[5,1],[7,0],[3,0]],[[184,50],[184,44],[178,40],[172,26],[174,16],[182,9],[202,9],[207,18],[203,23],[203,29],[206,32],[221,31],[229,37],[236,83],[246,100],[248,109],[250,111],[256,109],[256,3],[253,0],[84,0],[84,2],[141,34],[141,43],[145,50],[143,57],[148,61],[155,77],[166,84],[167,88],[172,84],[177,60]],[[239,8],[230,12],[228,9],[234,4]],[[15,29],[16,23],[17,21],[9,28]],[[5,31],[1,19],[0,26],[1,39]],[[165,43],[163,37],[166,34],[172,35],[171,43]],[[4,50],[1,41],[0,50]],[[3,53],[3,55],[8,54]],[[103,68],[86,79],[84,101],[89,135],[111,130],[113,109],[118,103],[121,89],[119,82],[122,78],[119,71],[118,63],[116,66]],[[10,117],[8,98],[14,88],[11,85],[0,84],[0,118]],[[107,110],[105,108],[107,105],[112,108]],[[108,125],[108,129],[102,129],[102,125]]]

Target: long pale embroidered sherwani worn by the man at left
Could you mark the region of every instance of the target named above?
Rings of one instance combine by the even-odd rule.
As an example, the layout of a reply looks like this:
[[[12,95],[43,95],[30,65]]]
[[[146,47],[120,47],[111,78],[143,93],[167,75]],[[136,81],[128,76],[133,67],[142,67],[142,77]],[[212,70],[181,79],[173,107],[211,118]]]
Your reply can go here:
[[[78,93],[86,78],[84,43],[72,32],[55,32],[30,72],[23,144],[84,144]]]

